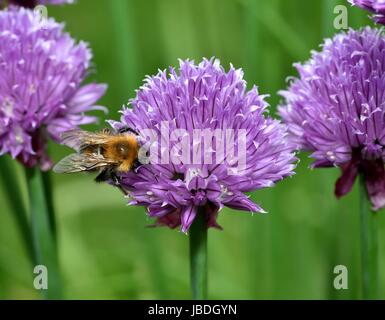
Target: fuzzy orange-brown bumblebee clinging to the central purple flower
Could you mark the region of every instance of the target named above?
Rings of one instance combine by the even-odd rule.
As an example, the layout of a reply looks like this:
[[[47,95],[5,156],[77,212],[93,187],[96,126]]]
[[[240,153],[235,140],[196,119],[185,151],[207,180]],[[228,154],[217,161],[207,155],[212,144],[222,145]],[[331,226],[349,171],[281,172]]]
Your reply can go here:
[[[119,174],[140,165],[137,133],[124,129],[117,133],[109,129],[101,132],[70,130],[62,135],[62,143],[73,148],[72,153],[53,168],[56,173],[99,172],[97,182],[112,181],[125,194]]]

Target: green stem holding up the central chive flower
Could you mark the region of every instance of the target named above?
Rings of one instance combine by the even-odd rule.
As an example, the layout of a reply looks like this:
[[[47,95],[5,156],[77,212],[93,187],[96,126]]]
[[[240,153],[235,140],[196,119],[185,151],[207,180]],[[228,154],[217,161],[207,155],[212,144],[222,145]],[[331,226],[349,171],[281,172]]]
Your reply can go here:
[[[207,222],[203,208],[190,227],[190,277],[194,300],[207,299]]]

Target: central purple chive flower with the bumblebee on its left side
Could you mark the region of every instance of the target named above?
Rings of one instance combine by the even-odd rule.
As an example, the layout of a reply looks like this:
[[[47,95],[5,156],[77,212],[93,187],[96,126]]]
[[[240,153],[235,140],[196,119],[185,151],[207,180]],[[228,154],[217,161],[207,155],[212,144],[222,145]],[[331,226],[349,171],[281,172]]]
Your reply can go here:
[[[162,136],[161,124],[167,123],[172,135],[184,129],[187,141],[195,150],[204,150],[198,162],[180,164],[146,164],[124,174],[121,183],[129,191],[131,205],[146,207],[148,216],[157,218],[156,225],[187,232],[198,212],[204,208],[208,227],[217,227],[216,218],[223,206],[249,212],[264,212],[245,192],[271,187],[293,174],[295,157],[285,140],[286,127],[278,120],[265,117],[267,103],[257,88],[246,90],[242,70],[232,66],[228,72],[219,60],[203,60],[199,65],[180,61],[179,72],[170,68],[148,77],[130,101],[132,109],[123,109],[121,122],[111,121],[119,130],[130,127],[139,132],[151,129]],[[206,164],[204,156],[215,160],[219,141],[212,148],[192,143],[194,130],[233,129],[234,135],[246,132],[245,140],[234,139],[234,149],[244,143],[246,166],[233,174],[235,165],[226,161]],[[164,137],[164,136],[162,136]],[[177,140],[179,142],[179,140]],[[173,151],[170,142],[162,152]],[[230,145],[226,146],[225,154]],[[192,152],[188,149],[188,152]],[[210,158],[210,159],[212,159]]]

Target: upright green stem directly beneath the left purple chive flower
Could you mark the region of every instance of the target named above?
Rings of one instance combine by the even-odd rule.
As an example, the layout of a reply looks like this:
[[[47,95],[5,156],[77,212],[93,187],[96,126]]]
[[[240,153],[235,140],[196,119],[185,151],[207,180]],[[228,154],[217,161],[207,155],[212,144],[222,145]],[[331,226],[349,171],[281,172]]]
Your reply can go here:
[[[47,267],[48,289],[46,299],[61,298],[61,282],[54,233],[50,223],[49,204],[44,188],[44,178],[39,168],[26,169],[31,215],[32,237],[37,263]]]

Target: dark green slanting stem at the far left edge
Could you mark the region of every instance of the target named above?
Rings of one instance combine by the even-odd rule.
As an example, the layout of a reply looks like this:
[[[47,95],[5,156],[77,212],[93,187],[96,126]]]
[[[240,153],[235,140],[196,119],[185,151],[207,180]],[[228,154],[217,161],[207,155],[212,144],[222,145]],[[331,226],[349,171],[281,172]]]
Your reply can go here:
[[[0,157],[0,177],[6,199],[20,229],[28,256],[33,264],[36,264],[35,252],[32,245],[32,234],[27,212],[20,192],[16,170],[7,156]]]

